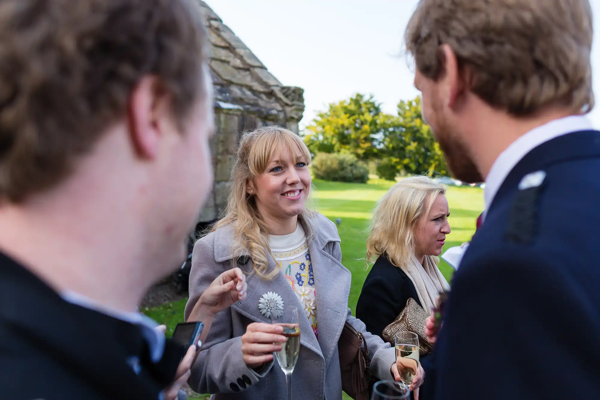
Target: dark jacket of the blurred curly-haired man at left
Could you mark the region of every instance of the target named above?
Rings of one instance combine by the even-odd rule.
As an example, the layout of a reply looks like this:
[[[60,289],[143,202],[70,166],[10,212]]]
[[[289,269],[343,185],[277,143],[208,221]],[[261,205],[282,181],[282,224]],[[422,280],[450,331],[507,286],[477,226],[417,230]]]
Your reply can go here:
[[[167,341],[152,363],[139,326],[65,302],[0,254],[2,400],[154,400],[183,354]],[[140,360],[139,375],[131,357]]]

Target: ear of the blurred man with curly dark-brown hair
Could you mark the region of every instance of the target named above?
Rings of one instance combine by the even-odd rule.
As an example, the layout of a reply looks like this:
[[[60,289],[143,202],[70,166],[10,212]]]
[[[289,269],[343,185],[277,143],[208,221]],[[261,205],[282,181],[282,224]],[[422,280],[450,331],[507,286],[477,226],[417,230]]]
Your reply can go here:
[[[169,104],[160,80],[154,76],[143,77],[131,91],[127,104],[127,125],[139,157],[156,157],[162,129],[168,118]]]

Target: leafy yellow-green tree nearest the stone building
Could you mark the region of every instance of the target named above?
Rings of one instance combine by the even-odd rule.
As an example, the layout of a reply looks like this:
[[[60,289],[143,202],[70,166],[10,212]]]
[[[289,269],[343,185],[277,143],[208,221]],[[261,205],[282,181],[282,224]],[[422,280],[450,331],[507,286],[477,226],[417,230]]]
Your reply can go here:
[[[377,156],[381,125],[390,117],[381,112],[373,96],[356,94],[320,112],[306,127],[304,142],[313,154],[349,152],[359,160],[368,160]]]

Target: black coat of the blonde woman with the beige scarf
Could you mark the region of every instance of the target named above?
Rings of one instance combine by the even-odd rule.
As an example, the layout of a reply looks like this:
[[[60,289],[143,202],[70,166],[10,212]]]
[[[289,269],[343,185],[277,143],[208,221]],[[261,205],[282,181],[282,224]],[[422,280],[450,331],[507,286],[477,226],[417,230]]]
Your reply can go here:
[[[356,304],[356,318],[365,323],[368,332],[381,336],[383,329],[398,317],[410,297],[421,305],[415,285],[406,273],[380,255],[362,285]]]

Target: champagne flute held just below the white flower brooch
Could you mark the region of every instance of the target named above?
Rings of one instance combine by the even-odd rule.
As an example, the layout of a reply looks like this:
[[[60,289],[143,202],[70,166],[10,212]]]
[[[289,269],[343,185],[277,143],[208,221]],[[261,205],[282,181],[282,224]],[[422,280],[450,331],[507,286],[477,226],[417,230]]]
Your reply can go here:
[[[283,326],[283,333],[286,336],[286,342],[281,345],[281,350],[275,352],[275,358],[281,367],[281,371],[286,374],[287,399],[292,400],[292,372],[298,361],[300,353],[300,322],[298,319],[298,308],[287,306],[281,317],[271,321],[274,324]]]

